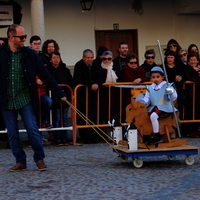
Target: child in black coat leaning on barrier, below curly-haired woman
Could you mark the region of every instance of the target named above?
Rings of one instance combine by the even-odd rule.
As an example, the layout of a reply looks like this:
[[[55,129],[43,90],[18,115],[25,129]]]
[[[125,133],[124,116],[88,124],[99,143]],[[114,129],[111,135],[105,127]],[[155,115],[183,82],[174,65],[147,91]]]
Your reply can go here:
[[[50,54],[50,65],[47,66],[50,74],[58,84],[65,84],[72,87],[72,75],[70,70],[66,67],[65,63],[62,62],[60,53],[52,52]],[[67,99],[70,100],[70,90],[63,87],[63,91],[66,94]],[[52,121],[53,127],[67,127],[68,126],[68,109],[69,105],[66,102],[61,102],[60,99],[52,92]],[[62,103],[62,106],[61,106]],[[56,146],[67,146],[67,130],[58,130],[54,132],[54,139]]]

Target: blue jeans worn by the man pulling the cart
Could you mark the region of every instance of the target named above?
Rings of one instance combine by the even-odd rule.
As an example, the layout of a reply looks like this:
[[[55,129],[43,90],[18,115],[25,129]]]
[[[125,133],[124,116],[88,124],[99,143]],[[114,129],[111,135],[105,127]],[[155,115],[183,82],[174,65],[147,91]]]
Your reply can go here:
[[[5,126],[7,128],[8,140],[16,163],[26,165],[26,153],[23,150],[19,137],[19,127],[17,116],[18,113],[22,117],[24,127],[30,138],[32,149],[34,151],[33,159],[35,162],[43,160],[44,149],[42,144],[42,136],[38,130],[37,119],[34,113],[33,105],[30,103],[19,110],[2,110]]]

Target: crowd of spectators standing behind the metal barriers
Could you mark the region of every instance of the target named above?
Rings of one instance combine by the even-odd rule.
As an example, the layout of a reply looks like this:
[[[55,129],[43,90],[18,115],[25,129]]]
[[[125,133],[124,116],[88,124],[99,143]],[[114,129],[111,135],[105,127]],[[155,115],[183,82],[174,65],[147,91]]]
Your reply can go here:
[[[105,86],[102,87],[102,83],[132,82],[132,84],[137,85],[142,82],[149,82],[151,81],[151,69],[158,66],[155,63],[156,53],[154,49],[147,49],[144,52],[144,62],[139,64],[138,56],[134,53],[129,54],[128,43],[120,42],[118,46],[119,55],[116,58],[113,58],[113,53],[104,46],[98,48],[96,58],[94,58],[94,52],[91,49],[84,50],[82,58],[74,66],[74,74],[72,76],[70,70],[61,59],[59,45],[54,39],[48,39],[44,41],[42,45],[40,37],[34,35],[30,38],[30,48],[40,56],[43,64],[58,84],[67,84],[72,88],[78,84],[89,86],[87,99],[89,105],[88,117],[94,123],[97,123],[98,118],[95,111],[98,90],[101,91],[100,122],[107,123],[108,120],[108,91],[105,89]],[[178,93],[177,105],[181,112],[183,107],[187,104],[187,91],[183,87],[184,82],[200,82],[199,50],[197,45],[191,44],[186,50],[181,48],[175,39],[170,39],[166,45],[164,63],[160,65],[160,67],[165,67],[168,81],[175,85]],[[63,102],[62,108],[60,108],[60,100],[57,99],[54,94],[52,94],[52,97],[48,95],[48,88],[45,87],[38,77],[36,77],[36,83],[39,88],[38,97],[41,103],[41,115],[38,116],[38,125],[41,128],[67,126],[69,106]],[[65,94],[67,95],[66,90]],[[113,89],[112,94],[117,96],[117,89]],[[86,102],[83,101],[83,99],[86,98],[85,95],[85,89],[81,88],[77,97],[77,106],[83,113],[86,113]],[[200,94],[197,93],[197,100],[199,96]],[[129,90],[123,93],[123,108],[129,104],[130,98],[131,92]],[[188,101],[191,101],[191,98],[189,98]],[[200,101],[196,102],[196,108],[200,107],[200,104],[198,104]],[[52,110],[53,114],[52,124],[49,119],[50,110]],[[188,115],[190,115],[189,110],[190,108],[188,109]],[[118,113],[116,109],[112,108],[112,112],[114,114],[111,113],[111,115],[113,114],[115,118],[118,118],[116,116],[116,113]],[[61,124],[61,122],[63,124]],[[78,124],[85,124],[83,119],[79,117],[77,122]],[[95,133],[92,129],[80,129],[79,134],[85,143],[96,142],[94,137]],[[56,131],[55,133],[49,131],[49,140],[50,139],[54,140],[57,146],[67,145],[67,131]]]

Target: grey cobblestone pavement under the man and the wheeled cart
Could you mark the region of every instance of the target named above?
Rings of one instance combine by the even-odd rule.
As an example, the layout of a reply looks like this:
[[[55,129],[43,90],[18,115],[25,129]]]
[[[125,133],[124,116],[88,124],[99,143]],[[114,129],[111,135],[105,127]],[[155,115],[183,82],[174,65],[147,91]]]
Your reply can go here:
[[[187,138],[200,147],[200,139]],[[36,169],[25,147],[28,170],[9,172],[15,163],[0,143],[0,200],[196,200],[200,199],[200,156],[186,165],[185,156],[144,157],[142,168],[122,163],[106,143],[45,146],[48,170]]]

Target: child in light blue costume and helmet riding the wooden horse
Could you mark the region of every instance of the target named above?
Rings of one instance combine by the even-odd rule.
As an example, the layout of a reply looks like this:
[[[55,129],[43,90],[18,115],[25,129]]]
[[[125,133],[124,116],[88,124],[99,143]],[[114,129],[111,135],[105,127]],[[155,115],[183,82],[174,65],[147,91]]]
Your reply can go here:
[[[153,127],[153,133],[147,139],[149,144],[157,143],[161,140],[158,119],[168,117],[173,113],[171,100],[174,101],[177,98],[177,93],[173,87],[169,87],[167,82],[164,81],[165,77],[162,68],[153,67],[150,75],[153,83],[148,87],[145,96],[139,100],[148,106]]]

